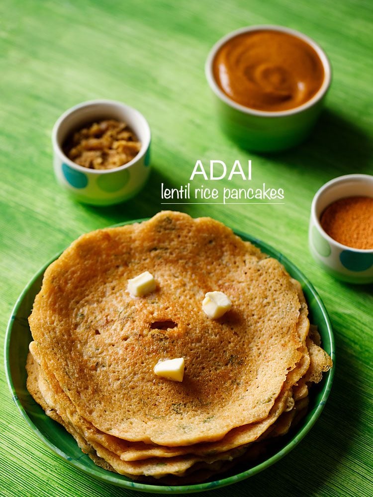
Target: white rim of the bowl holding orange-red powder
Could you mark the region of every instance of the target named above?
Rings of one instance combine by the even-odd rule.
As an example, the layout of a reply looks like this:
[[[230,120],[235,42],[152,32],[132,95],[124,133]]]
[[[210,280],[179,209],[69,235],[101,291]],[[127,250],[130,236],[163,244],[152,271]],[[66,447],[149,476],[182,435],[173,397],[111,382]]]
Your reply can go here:
[[[356,252],[356,253],[373,253],[373,248],[355,248],[355,247],[349,247],[348,245],[343,245],[340,242],[337,242],[337,240],[334,240],[331,236],[329,236],[324,228],[321,226],[319,216],[316,214],[316,207],[317,203],[320,201],[320,198],[324,193],[327,191],[331,190],[335,186],[343,183],[347,183],[350,181],[356,180],[356,182],[365,182],[369,181],[372,183],[372,188],[373,188],[373,175],[371,174],[344,174],[343,176],[338,176],[336,178],[331,179],[330,181],[327,181],[324,183],[315,193],[312,203],[311,203],[311,217],[313,224],[316,226],[320,234],[329,242],[330,245],[335,246],[336,248],[339,248],[340,250],[350,250],[351,252]],[[352,195],[353,196],[353,195]],[[354,195],[355,196],[355,195]],[[340,200],[342,198],[348,198],[348,197],[340,197],[337,200]],[[334,200],[333,202],[336,202],[337,200]],[[331,202],[331,204],[333,203]],[[329,204],[330,205],[330,204]]]

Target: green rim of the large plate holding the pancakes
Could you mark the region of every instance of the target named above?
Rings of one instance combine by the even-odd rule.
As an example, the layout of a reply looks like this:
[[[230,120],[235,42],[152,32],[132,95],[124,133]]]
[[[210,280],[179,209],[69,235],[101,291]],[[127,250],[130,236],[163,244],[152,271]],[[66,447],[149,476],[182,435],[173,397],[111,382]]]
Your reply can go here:
[[[117,226],[124,226],[126,224],[132,224],[132,223],[140,223],[143,221],[146,221],[149,218],[143,218],[143,219],[137,219],[133,221],[126,221],[123,223],[118,223],[115,225],[110,226],[111,228],[117,227]],[[313,427],[315,422],[317,421],[318,417],[320,416],[321,412],[324,409],[325,403],[329,397],[332,384],[333,384],[333,379],[334,379],[334,374],[335,374],[335,342],[334,342],[334,335],[333,335],[333,330],[332,330],[332,325],[330,322],[330,318],[328,315],[328,312],[318,295],[317,291],[313,287],[313,285],[310,283],[308,278],[304,276],[302,271],[300,271],[297,266],[295,266],[287,257],[282,255],[277,249],[271,247],[270,245],[266,244],[265,242],[262,242],[260,239],[257,239],[255,237],[252,237],[251,235],[248,235],[240,230],[233,230],[236,235],[238,235],[240,238],[242,238],[245,241],[249,241],[253,243],[254,245],[259,245],[260,248],[263,248],[263,250],[268,253],[271,257],[277,258],[279,262],[282,264],[284,263],[287,267],[290,268],[292,274],[291,276],[293,277],[294,274],[296,277],[301,277],[301,284],[302,288],[303,284],[307,288],[307,292],[309,292],[312,295],[312,298],[315,300],[317,303],[318,308],[321,310],[322,316],[325,320],[326,324],[326,329],[327,329],[327,336],[328,336],[328,345],[330,345],[330,356],[333,360],[333,367],[323,376],[323,379],[325,378],[325,384],[322,387],[322,390],[320,391],[320,401],[314,411],[311,414],[311,417],[309,420],[304,424],[299,430],[296,430],[295,433],[291,436],[290,440],[288,440],[285,444],[284,447],[282,447],[278,452],[273,454],[271,457],[268,459],[262,461],[261,463],[252,466],[251,468],[242,471],[241,473],[235,474],[235,475],[229,475],[225,478],[222,479],[217,479],[213,480],[211,482],[205,482],[205,483],[198,483],[198,484],[192,484],[192,485],[177,485],[177,486],[169,486],[169,485],[151,485],[151,484],[146,484],[146,483],[141,483],[141,482],[136,482],[136,481],[130,481],[130,480],[121,480],[120,477],[122,475],[117,475],[115,473],[110,473],[107,471],[107,475],[105,474],[105,477],[103,478],[99,473],[94,472],[90,468],[87,468],[83,464],[80,463],[79,460],[74,460],[70,456],[68,456],[63,450],[61,450],[59,447],[54,445],[52,442],[48,440],[48,438],[39,430],[39,428],[35,425],[35,423],[31,420],[29,415],[27,414],[26,410],[22,406],[21,401],[18,398],[17,391],[15,389],[11,372],[10,372],[10,360],[9,360],[9,348],[10,348],[10,338],[11,338],[11,331],[12,331],[12,324],[13,324],[13,317],[16,315],[18,308],[20,307],[23,299],[29,292],[30,287],[35,283],[35,281],[40,278],[40,276],[44,273],[46,268],[51,264],[54,260],[56,260],[57,257],[62,253],[62,251],[58,252],[55,254],[48,262],[46,262],[34,275],[33,277],[29,280],[21,294],[19,295],[17,301],[14,304],[14,307],[12,309],[7,327],[6,327],[6,332],[5,332],[5,339],[4,339],[4,366],[5,366],[5,376],[6,376],[6,381],[9,387],[9,390],[12,394],[12,399],[15,405],[17,406],[19,412],[23,416],[23,418],[26,420],[27,424],[30,426],[32,431],[34,431],[35,434],[39,437],[39,439],[47,446],[49,447],[54,453],[56,453],[58,456],[60,456],[62,459],[65,461],[69,462],[72,466],[75,468],[80,469],[83,473],[86,475],[89,475],[99,481],[116,485],[121,488],[127,488],[130,490],[135,490],[135,491],[141,491],[141,492],[147,492],[147,493],[159,493],[159,494],[188,494],[188,493],[195,493],[195,492],[204,492],[208,490],[214,490],[217,488],[222,488],[228,485],[232,485],[234,483],[238,483],[240,481],[246,480],[247,478],[254,476],[261,471],[269,468],[273,464],[275,464],[277,461],[279,461],[283,456],[285,456],[287,453],[289,453],[304,437],[305,435],[310,431],[310,429]],[[286,269],[287,269],[286,267]],[[119,479],[118,479],[119,478]]]

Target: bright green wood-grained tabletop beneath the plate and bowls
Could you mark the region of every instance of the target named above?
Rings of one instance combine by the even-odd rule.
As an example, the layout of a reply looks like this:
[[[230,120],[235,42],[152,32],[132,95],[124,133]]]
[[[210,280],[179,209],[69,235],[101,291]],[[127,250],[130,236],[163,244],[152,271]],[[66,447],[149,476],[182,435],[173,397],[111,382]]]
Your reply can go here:
[[[326,110],[295,150],[238,149],[215,121],[204,61],[243,25],[273,23],[317,40],[333,65]],[[31,276],[80,234],[163,208],[160,185],[188,181],[197,159],[252,160],[250,186],[285,190],[282,205],[171,206],[214,217],[280,250],[312,281],[332,320],[333,390],[307,437],[269,470],[217,496],[373,495],[372,286],[333,280],[307,245],[310,203],[327,180],[373,173],[373,5],[368,0],[39,1],[0,4],[0,344]],[[51,128],[68,107],[111,98],[137,107],[152,130],[152,173],[132,201],[74,203],[52,171]],[[239,178],[220,187],[241,187]],[[11,400],[0,365],[1,496],[131,496],[98,483],[47,449]]]

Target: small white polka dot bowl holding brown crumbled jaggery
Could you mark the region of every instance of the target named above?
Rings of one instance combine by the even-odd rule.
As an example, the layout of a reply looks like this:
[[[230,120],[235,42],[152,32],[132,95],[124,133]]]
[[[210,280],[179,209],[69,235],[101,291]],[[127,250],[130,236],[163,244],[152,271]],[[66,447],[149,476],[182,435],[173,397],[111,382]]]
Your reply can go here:
[[[132,161],[113,169],[89,169],[71,161],[63,152],[66,138],[82,126],[101,119],[124,121],[141,142]],[[149,175],[150,128],[140,112],[114,100],[91,100],[68,109],[52,131],[54,172],[61,186],[80,201],[112,205],[136,195]]]

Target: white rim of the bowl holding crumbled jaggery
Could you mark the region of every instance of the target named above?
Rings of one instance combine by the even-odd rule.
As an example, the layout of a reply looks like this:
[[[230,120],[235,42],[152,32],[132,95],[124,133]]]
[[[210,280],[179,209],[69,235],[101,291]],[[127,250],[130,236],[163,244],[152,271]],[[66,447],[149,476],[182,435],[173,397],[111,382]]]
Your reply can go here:
[[[141,122],[141,126],[145,130],[146,134],[146,140],[141,142],[141,149],[136,154],[136,156],[126,164],[123,164],[122,166],[118,167],[113,167],[112,169],[89,169],[88,167],[80,166],[79,164],[75,163],[71,159],[69,159],[64,151],[62,150],[60,144],[58,143],[57,140],[57,134],[60,129],[61,124],[63,121],[69,117],[73,113],[78,113],[81,110],[91,107],[94,105],[108,105],[111,107],[116,107],[118,109],[123,110],[124,112],[132,112],[136,118]],[[110,100],[106,98],[97,98],[94,100],[87,100],[84,102],[80,102],[76,105],[73,105],[72,107],[68,108],[65,110],[60,117],[57,119],[55,122],[53,128],[52,128],[52,145],[53,145],[53,151],[55,152],[56,155],[59,156],[59,158],[66,163],[68,166],[72,167],[73,169],[76,169],[77,171],[84,172],[86,174],[114,174],[115,172],[122,171],[123,169],[127,169],[128,167],[133,166],[136,164],[144,155],[147,153],[151,141],[151,132],[150,132],[150,126],[148,121],[145,119],[144,115],[135,107],[131,107],[130,105],[127,105],[123,102],[120,102],[119,100]]]

